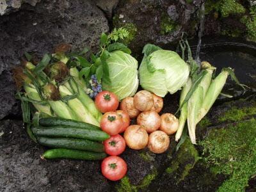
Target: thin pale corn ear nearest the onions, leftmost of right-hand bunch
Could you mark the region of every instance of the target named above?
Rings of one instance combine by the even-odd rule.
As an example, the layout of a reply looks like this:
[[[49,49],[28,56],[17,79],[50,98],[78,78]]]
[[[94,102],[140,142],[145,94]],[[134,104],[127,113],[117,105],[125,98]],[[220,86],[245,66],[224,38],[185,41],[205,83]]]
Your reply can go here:
[[[188,94],[190,88],[192,86],[191,78],[188,79],[187,83],[185,84],[184,88],[182,88],[182,91],[180,93],[180,106],[183,103],[186,95]],[[175,141],[178,141],[182,135],[182,131],[184,129],[184,125],[186,123],[188,117],[188,102],[186,102],[182,108],[180,109],[180,118],[179,118],[179,127],[175,134]]]

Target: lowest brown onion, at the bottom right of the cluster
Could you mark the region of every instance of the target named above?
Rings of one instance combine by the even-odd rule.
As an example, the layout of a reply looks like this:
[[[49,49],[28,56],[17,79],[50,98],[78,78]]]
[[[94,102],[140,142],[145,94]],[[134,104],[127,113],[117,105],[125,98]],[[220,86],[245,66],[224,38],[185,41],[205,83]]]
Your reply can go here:
[[[148,139],[148,148],[155,154],[161,154],[167,150],[170,145],[169,136],[163,131],[154,131],[150,133]]]

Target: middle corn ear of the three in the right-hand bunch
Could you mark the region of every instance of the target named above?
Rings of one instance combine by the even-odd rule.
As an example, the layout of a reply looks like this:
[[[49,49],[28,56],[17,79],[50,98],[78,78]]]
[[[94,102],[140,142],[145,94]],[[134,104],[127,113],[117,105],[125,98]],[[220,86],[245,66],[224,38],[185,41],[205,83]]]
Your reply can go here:
[[[214,67],[205,69],[207,73],[188,100],[188,132],[190,140],[193,144],[196,144],[196,117],[202,106],[202,102],[204,101],[207,90],[211,84],[212,72],[214,69]]]

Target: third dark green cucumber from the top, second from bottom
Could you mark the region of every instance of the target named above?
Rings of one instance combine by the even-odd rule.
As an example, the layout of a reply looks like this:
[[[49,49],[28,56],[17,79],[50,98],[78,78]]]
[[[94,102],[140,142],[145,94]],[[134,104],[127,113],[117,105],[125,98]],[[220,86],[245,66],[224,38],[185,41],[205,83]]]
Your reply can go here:
[[[78,140],[70,138],[37,138],[38,143],[50,148],[70,148],[78,150],[88,150],[92,152],[104,152],[102,143],[90,140]]]

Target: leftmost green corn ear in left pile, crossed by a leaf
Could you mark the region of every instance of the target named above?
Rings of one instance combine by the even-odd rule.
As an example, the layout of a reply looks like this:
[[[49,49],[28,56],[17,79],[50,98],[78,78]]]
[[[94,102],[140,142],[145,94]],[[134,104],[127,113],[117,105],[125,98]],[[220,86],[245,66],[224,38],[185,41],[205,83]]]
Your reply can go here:
[[[23,87],[24,87],[26,95],[28,95],[29,99],[42,101],[39,96],[39,93],[36,91],[35,88],[33,88],[32,84],[31,85],[24,84]],[[49,116],[53,116],[49,104],[40,105],[40,104],[33,103],[33,106],[35,106],[35,108],[38,110],[38,112],[46,113]]]

